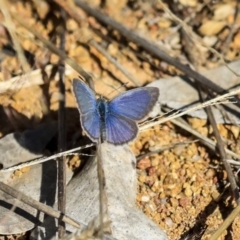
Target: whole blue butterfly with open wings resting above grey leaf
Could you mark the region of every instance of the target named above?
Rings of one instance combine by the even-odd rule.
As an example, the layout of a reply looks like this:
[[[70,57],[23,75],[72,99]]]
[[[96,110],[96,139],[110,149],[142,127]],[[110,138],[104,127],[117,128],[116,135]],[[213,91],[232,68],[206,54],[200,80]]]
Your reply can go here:
[[[153,109],[159,97],[156,87],[129,90],[108,101],[95,98],[86,83],[73,79],[73,92],[80,121],[87,136],[97,142],[101,137],[114,145],[130,142],[138,135],[138,121]]]

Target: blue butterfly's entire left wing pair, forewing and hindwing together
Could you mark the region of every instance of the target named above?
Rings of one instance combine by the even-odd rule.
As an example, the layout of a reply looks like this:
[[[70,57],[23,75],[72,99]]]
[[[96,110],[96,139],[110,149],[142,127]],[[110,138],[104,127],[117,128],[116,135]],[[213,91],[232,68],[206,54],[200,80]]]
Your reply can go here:
[[[80,112],[80,121],[87,136],[96,142],[100,137],[100,118],[93,91],[81,80],[73,79],[73,92]]]

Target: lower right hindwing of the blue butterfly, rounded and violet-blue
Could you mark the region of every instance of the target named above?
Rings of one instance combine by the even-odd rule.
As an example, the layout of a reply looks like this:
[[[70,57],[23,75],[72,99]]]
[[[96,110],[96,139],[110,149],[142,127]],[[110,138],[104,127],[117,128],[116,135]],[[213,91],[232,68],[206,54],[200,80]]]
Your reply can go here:
[[[109,143],[120,145],[132,141],[138,134],[138,126],[135,121],[117,114],[107,114],[106,140]]]

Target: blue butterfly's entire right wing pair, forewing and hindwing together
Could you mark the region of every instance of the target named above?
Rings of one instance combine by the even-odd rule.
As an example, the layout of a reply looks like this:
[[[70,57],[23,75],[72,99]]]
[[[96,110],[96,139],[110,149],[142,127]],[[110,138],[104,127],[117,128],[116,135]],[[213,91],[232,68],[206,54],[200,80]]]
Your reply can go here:
[[[117,145],[136,138],[138,134],[136,121],[147,117],[158,97],[158,88],[142,87],[120,94],[108,102],[107,141]]]

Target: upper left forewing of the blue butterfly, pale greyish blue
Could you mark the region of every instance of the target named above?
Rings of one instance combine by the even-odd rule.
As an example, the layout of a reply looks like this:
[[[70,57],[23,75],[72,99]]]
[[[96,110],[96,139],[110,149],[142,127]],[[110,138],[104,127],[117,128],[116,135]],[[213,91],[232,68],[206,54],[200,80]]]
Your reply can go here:
[[[93,91],[81,80],[73,79],[73,92],[80,114],[87,114],[96,110],[96,98]]]

